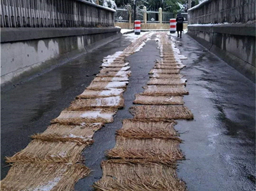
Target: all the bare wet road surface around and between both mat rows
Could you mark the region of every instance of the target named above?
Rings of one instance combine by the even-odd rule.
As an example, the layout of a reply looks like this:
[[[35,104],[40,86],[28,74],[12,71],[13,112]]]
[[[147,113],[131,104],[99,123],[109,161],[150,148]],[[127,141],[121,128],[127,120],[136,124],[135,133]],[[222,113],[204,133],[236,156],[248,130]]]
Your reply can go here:
[[[126,45],[128,40],[116,40],[1,93],[1,178],[8,170],[3,168],[3,157],[27,146],[29,135],[43,132],[49,121],[88,86],[102,57]],[[189,90],[184,101],[195,116],[194,121],[179,120],[175,126],[183,133],[181,149],[187,159],[179,164],[179,178],[189,191],[255,190],[255,84],[187,35],[177,38],[177,47],[189,58],[183,61],[187,67],[182,74],[188,79]],[[85,164],[93,172],[80,180],[75,190],[90,191],[93,182],[101,178],[104,151],[115,146],[115,130],[121,128],[121,120],[132,117],[128,108],[148,82],[148,71],[159,59],[158,54],[151,40],[127,58],[132,76],[124,93],[125,108],[118,111],[114,123],[94,134],[94,144],[84,152]]]

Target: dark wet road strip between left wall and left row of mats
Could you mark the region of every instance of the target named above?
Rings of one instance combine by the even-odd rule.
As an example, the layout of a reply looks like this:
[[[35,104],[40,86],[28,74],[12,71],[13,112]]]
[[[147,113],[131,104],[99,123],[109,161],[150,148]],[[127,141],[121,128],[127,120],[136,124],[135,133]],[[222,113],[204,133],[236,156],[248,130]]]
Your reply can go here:
[[[74,61],[12,89],[1,89],[1,179],[12,156],[46,130],[50,121],[80,95],[98,73],[102,58],[124,50],[130,40],[121,38]]]

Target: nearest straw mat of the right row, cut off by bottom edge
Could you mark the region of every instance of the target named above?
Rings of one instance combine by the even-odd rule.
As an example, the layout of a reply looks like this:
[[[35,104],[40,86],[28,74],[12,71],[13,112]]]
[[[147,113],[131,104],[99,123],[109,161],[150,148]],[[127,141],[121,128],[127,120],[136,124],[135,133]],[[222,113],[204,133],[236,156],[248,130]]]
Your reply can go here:
[[[133,164],[122,160],[101,163],[103,176],[96,191],[186,191],[175,168],[161,164]]]

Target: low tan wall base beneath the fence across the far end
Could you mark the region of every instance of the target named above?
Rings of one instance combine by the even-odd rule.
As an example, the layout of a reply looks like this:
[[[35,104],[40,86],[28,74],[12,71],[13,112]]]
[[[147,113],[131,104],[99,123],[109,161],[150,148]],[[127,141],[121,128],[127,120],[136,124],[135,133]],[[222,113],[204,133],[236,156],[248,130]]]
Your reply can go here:
[[[134,23],[132,22],[129,24],[128,22],[115,22],[115,26],[119,26],[122,29],[133,29],[134,28]],[[183,24],[183,29],[187,29],[188,24],[184,23]],[[169,23],[141,23],[141,30],[169,30],[170,29],[170,24]]]

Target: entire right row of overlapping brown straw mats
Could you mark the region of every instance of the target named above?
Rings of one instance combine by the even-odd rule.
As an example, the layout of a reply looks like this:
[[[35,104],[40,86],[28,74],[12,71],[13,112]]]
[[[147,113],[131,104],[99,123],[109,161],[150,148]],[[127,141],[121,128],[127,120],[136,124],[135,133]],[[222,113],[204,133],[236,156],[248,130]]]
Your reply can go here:
[[[182,140],[174,119],[193,119],[185,107],[184,65],[176,62],[174,51],[164,36],[158,35],[162,61],[155,63],[144,92],[135,95],[130,108],[134,119],[123,120],[116,132],[116,144],[101,163],[103,176],[94,184],[97,191],[186,191],[176,174],[176,160],[184,159]],[[170,64],[170,65],[169,65]]]

